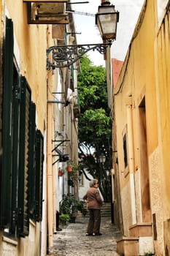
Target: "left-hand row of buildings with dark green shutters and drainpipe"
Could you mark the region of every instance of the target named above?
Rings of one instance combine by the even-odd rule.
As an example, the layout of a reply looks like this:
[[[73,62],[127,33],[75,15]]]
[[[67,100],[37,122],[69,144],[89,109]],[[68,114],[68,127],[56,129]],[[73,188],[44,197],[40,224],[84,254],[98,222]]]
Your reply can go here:
[[[76,40],[67,2],[0,1],[0,255],[47,255],[63,195],[58,168],[77,163],[79,65],[47,70],[46,56]]]

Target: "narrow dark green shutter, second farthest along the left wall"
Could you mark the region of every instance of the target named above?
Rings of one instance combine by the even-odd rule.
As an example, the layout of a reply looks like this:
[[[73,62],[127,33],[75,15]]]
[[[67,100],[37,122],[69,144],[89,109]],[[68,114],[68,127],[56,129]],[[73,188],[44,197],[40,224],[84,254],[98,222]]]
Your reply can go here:
[[[28,160],[28,194],[29,214],[34,218],[35,211],[35,143],[36,143],[36,105],[30,103],[30,129],[29,129],[29,160]]]

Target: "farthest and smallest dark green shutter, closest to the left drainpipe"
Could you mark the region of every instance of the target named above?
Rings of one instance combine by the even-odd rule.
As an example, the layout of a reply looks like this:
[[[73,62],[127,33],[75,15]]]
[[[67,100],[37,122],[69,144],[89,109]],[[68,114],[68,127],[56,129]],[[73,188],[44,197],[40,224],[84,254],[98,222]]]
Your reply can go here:
[[[39,129],[36,130],[36,211],[35,220],[42,220],[42,181],[43,181],[43,137]]]

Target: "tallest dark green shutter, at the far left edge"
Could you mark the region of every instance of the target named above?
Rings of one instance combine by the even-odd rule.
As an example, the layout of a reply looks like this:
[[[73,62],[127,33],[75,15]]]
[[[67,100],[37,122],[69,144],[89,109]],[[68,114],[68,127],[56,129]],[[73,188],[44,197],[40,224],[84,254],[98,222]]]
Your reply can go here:
[[[13,24],[6,20],[4,40],[4,87],[2,113],[2,148],[1,159],[1,208],[0,224],[5,227],[10,221],[11,172],[12,172],[12,84],[13,84]]]

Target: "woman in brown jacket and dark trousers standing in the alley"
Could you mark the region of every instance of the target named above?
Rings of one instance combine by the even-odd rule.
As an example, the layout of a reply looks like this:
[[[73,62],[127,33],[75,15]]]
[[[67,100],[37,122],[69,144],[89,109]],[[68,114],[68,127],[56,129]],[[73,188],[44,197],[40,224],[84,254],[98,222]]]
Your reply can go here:
[[[98,180],[93,179],[90,181],[90,188],[82,197],[85,202],[88,203],[89,210],[89,222],[86,236],[101,236],[100,225],[101,225],[101,196],[98,191]]]

